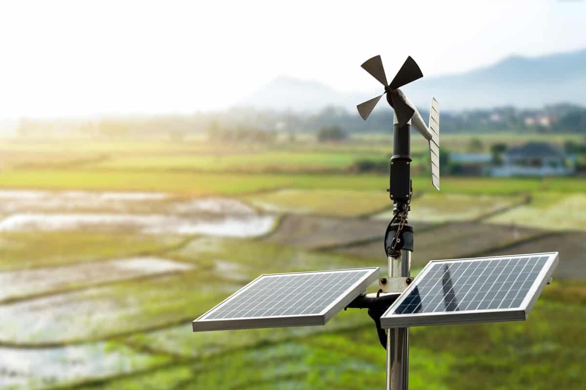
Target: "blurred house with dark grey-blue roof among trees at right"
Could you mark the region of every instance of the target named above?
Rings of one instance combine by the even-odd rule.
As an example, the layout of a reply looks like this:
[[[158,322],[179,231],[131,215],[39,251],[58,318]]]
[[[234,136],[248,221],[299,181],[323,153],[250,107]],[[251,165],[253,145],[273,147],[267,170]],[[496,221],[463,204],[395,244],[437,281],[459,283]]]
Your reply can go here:
[[[493,176],[563,176],[575,172],[573,158],[547,142],[529,142],[502,155],[502,164],[492,168]]]

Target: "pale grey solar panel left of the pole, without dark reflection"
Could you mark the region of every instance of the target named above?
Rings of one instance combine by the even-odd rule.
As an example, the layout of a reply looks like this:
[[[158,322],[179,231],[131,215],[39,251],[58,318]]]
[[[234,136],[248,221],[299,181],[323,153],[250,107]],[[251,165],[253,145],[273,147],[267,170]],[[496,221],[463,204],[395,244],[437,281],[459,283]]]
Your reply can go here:
[[[261,275],[193,321],[193,332],[324,325],[378,277],[377,267]]]

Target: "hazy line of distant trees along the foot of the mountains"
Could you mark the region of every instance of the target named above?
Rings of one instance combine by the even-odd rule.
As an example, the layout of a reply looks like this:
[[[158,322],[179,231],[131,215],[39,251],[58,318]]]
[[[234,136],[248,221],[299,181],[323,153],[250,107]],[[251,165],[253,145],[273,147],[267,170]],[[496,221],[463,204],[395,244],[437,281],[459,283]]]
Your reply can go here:
[[[429,113],[421,110],[423,118]],[[132,118],[101,118],[96,120],[35,120],[22,119],[18,125],[21,136],[71,134],[108,138],[169,136],[181,139],[190,133],[208,133],[212,139],[274,140],[276,133],[314,133],[337,126],[344,133],[389,132],[393,111],[374,111],[364,121],[357,112],[339,107],[326,107],[318,112],[292,112],[233,108],[224,112],[195,113]],[[485,133],[495,131],[527,133],[586,133],[586,108],[560,103],[541,109],[517,109],[505,106],[441,113],[442,133]],[[326,134],[326,138],[332,137]],[[333,136],[334,138],[336,135]]]

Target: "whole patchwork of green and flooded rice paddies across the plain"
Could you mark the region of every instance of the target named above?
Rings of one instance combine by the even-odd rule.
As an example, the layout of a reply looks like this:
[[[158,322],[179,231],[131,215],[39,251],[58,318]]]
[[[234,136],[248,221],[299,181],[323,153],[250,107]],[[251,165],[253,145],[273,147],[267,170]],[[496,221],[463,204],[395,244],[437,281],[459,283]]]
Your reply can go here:
[[[388,177],[352,167],[390,148],[366,135],[2,140],[0,389],[383,388],[366,310],[314,327],[193,333],[191,321],[263,273],[386,274]],[[412,328],[410,388],[582,388],[586,179],[441,186],[413,178],[413,274],[466,256],[560,251],[560,264],[527,321]]]

